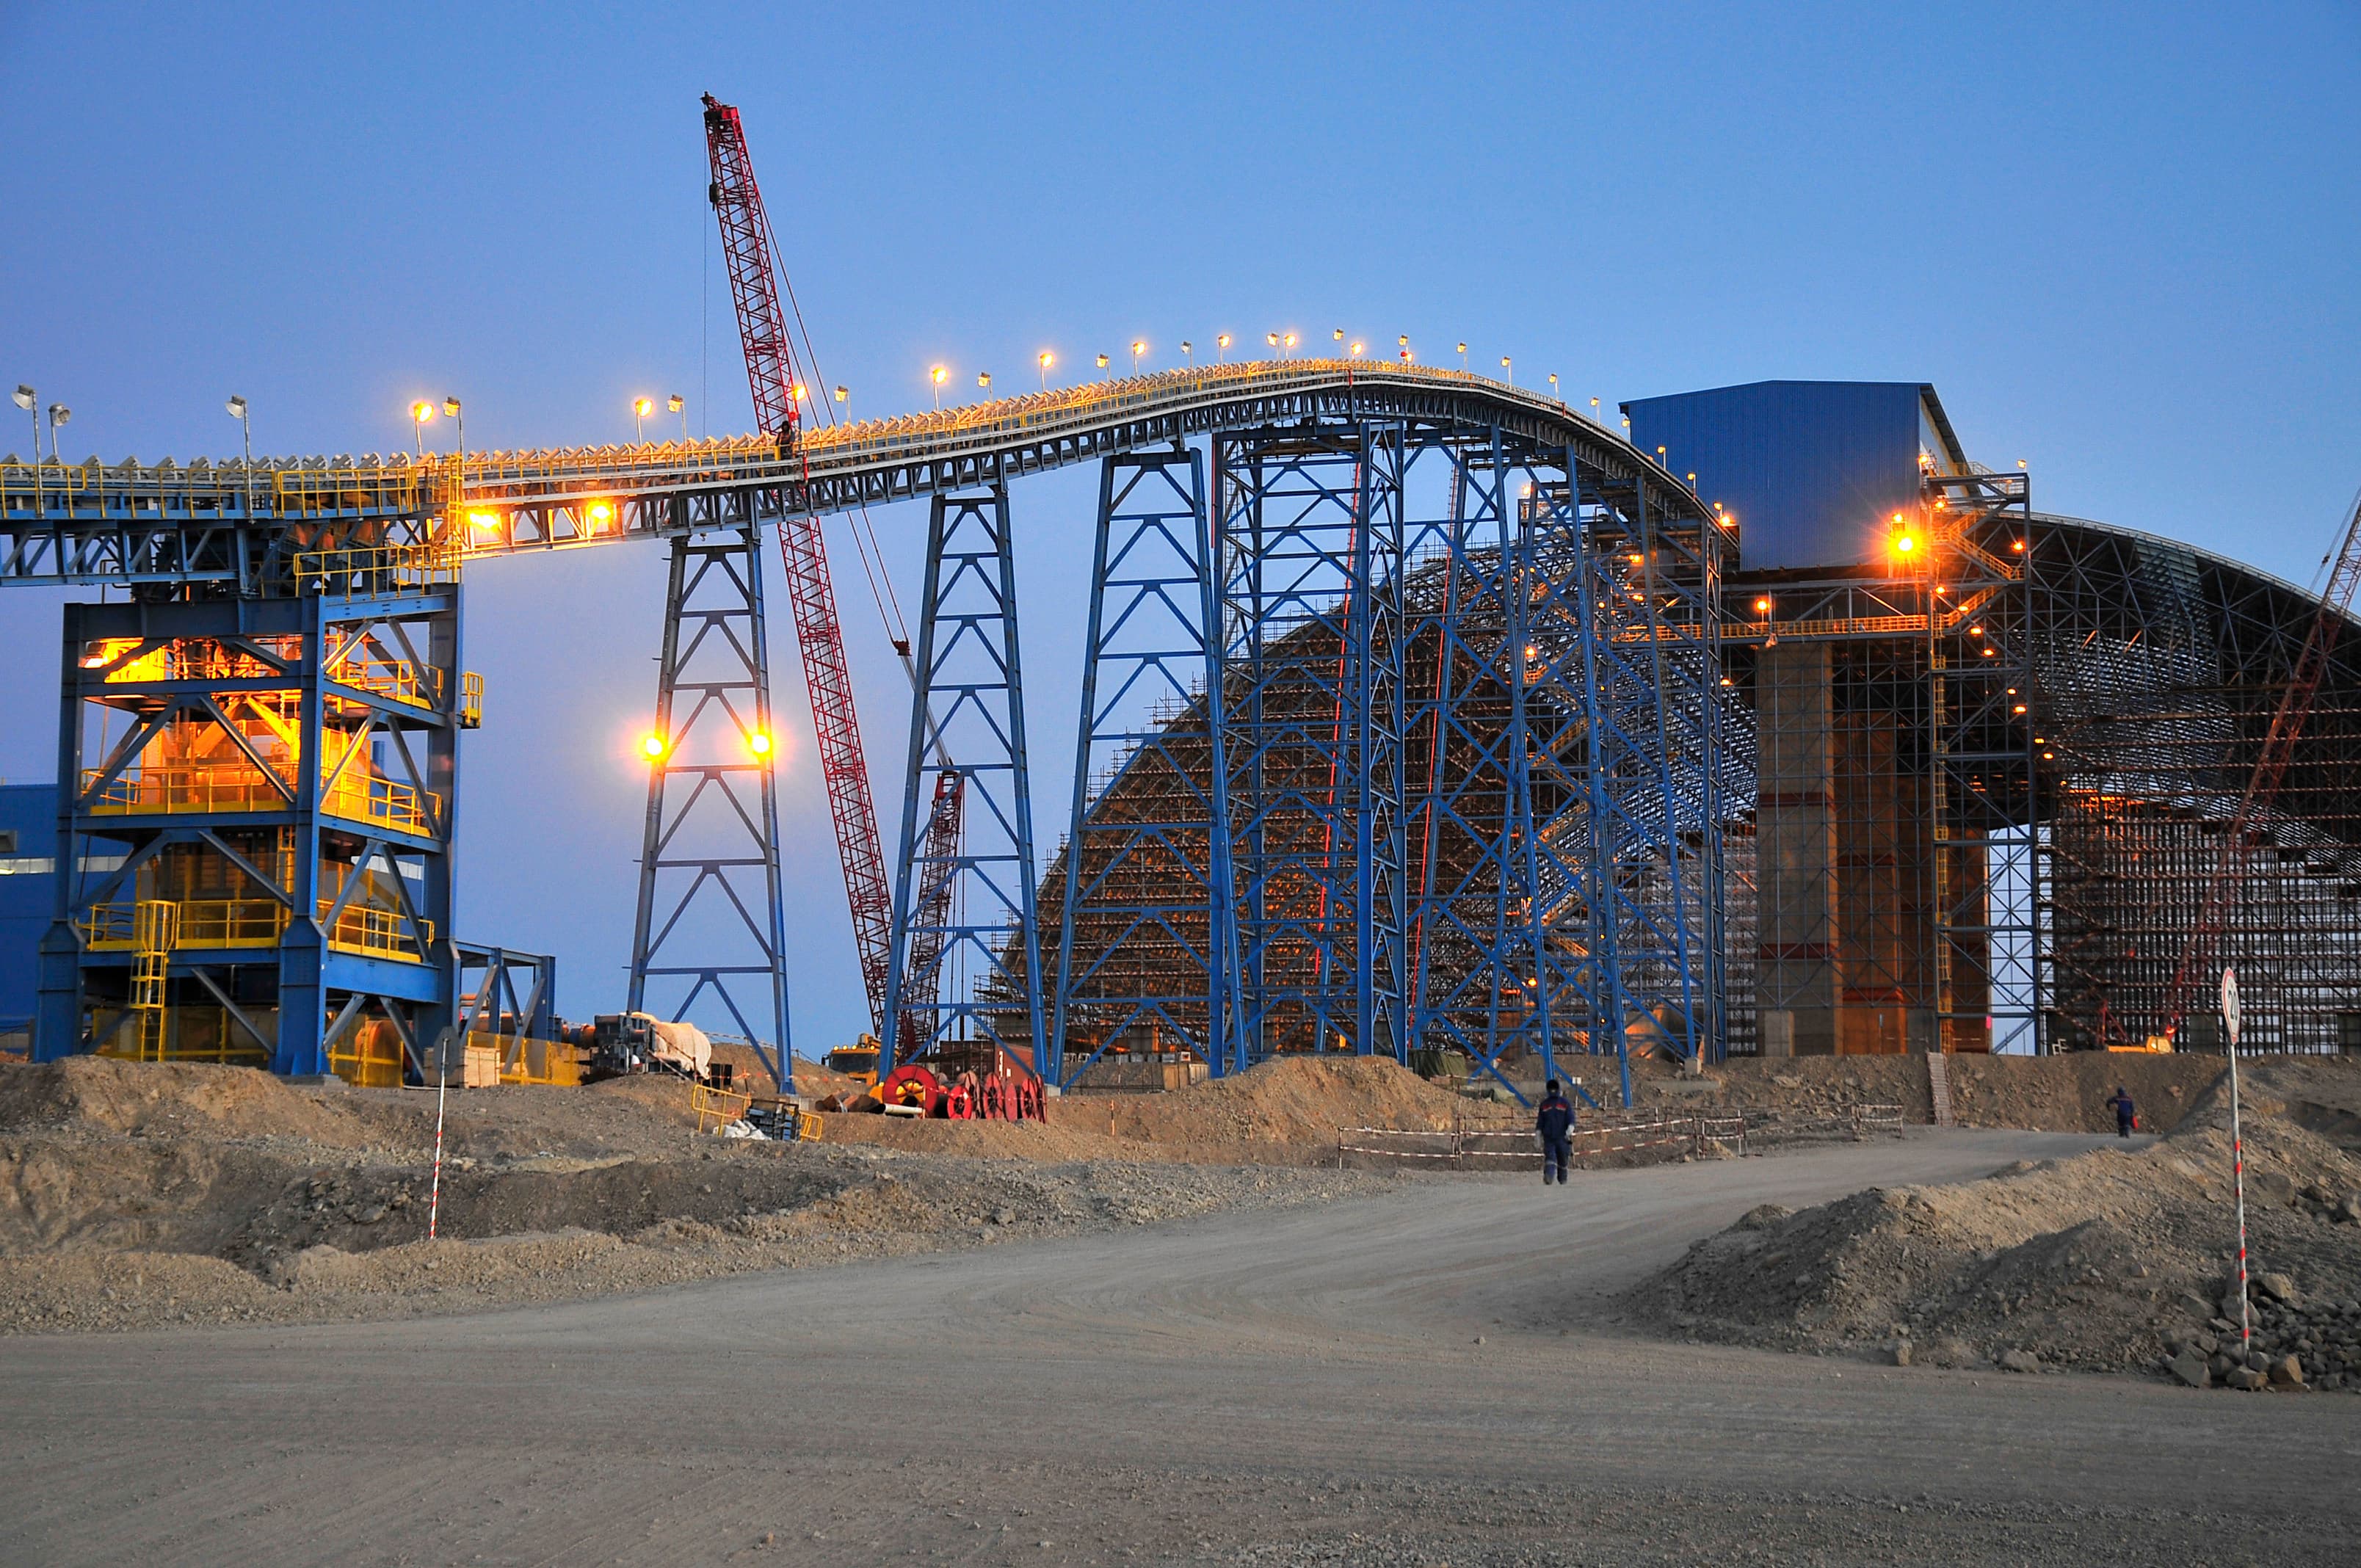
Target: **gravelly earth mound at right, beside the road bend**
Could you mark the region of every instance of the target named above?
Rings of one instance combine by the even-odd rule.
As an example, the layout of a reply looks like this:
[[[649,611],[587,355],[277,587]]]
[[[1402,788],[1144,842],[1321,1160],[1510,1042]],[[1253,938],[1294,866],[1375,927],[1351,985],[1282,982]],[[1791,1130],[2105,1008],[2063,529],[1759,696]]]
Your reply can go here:
[[[2361,1074],[2281,1060],[2248,1089],[2250,1247],[2257,1275],[2283,1287],[2257,1294],[2264,1353],[2295,1353],[2314,1386],[2361,1386],[2361,1159],[2300,1122],[2349,1115]],[[2146,1148],[1872,1188],[1801,1214],[1766,1204],[1631,1306],[1700,1339],[1934,1365],[2153,1370],[2196,1344],[2210,1381],[2231,1372],[2208,1367],[2236,1318],[2229,1171],[2226,1093],[2208,1091]]]

